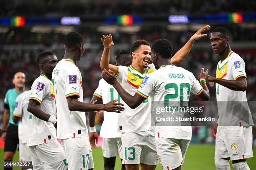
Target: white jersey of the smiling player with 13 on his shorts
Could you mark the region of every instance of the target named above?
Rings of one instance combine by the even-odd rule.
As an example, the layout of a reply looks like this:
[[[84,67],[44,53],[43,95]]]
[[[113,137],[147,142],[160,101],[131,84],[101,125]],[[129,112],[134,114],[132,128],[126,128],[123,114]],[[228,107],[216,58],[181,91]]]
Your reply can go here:
[[[138,87],[141,85],[143,78],[155,70],[153,64],[149,64],[144,72],[139,72],[132,65],[117,66],[118,72],[116,77],[120,85],[130,95],[134,95]],[[119,114],[118,130],[121,132],[141,132],[151,130],[151,99],[145,100],[136,109],[131,109],[123,100],[125,110]]]

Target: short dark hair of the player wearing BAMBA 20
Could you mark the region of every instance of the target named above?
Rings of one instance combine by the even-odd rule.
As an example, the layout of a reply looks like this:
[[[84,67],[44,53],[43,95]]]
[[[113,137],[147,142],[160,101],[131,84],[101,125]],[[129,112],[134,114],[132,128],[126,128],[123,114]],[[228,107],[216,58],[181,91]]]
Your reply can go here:
[[[152,51],[161,55],[163,58],[171,58],[172,50],[172,43],[167,39],[156,40],[152,45]]]

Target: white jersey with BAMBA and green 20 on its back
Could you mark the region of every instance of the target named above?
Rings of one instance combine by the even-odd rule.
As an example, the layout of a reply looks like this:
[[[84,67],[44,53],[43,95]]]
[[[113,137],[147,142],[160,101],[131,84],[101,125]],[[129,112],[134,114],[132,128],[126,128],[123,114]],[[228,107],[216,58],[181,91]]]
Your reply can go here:
[[[153,101],[163,102],[169,96],[167,100],[169,105],[169,103],[179,104],[181,101],[188,101],[189,91],[200,95],[202,90],[202,86],[192,72],[182,67],[167,65],[147,75],[136,93],[144,98],[151,97]],[[156,133],[161,138],[190,140],[192,128],[191,126],[156,126]]]

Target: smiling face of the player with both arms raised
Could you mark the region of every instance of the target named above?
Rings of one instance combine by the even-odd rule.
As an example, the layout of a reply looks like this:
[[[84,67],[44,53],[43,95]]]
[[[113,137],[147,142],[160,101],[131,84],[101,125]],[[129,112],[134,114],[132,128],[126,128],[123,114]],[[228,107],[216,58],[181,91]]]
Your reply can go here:
[[[148,45],[141,45],[132,52],[133,61],[138,63],[141,68],[147,68],[151,60],[151,48]]]

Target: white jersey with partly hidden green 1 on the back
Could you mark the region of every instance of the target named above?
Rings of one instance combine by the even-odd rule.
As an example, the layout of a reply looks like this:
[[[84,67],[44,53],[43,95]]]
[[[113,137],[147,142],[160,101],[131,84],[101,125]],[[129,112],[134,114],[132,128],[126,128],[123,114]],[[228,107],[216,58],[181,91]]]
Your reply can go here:
[[[103,104],[116,99],[118,99],[118,102],[120,102],[120,96],[118,95],[118,92],[112,85],[105,82],[104,79],[100,79],[99,86],[93,95],[102,98]],[[100,129],[101,138],[121,138],[121,133],[117,130],[119,114],[122,113],[104,111],[104,121]]]

